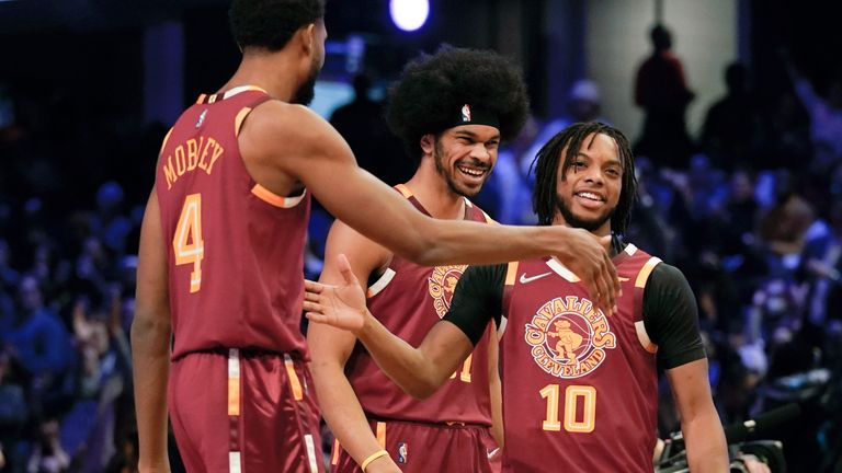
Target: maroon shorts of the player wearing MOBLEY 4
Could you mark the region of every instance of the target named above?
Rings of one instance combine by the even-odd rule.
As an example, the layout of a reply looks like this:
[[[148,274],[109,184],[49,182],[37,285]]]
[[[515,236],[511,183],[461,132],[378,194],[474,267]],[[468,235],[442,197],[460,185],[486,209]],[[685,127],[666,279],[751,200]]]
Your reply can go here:
[[[168,402],[191,473],[321,473],[319,412],[291,355],[191,354],[172,364]]]

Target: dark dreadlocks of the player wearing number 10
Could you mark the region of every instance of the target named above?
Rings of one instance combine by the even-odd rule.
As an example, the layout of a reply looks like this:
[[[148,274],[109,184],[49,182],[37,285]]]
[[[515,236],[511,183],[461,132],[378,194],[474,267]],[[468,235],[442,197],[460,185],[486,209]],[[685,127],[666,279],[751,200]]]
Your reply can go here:
[[[554,136],[538,151],[532,168],[535,169],[535,193],[532,196],[532,208],[538,216],[538,223],[549,226],[558,206],[556,186],[558,184],[558,165],[561,161],[561,152],[567,147],[565,161],[561,164],[561,178],[567,175],[567,170],[573,163],[573,158],[581,149],[585,138],[591,134],[602,134],[617,143],[619,162],[623,165],[623,187],[619,191],[619,199],[614,215],[611,218],[611,230],[615,234],[623,234],[628,226],[632,215],[632,206],[637,199],[637,177],[635,177],[635,159],[628,146],[628,139],[616,128],[599,123],[577,123],[565,128]],[[591,142],[587,147],[591,146]]]

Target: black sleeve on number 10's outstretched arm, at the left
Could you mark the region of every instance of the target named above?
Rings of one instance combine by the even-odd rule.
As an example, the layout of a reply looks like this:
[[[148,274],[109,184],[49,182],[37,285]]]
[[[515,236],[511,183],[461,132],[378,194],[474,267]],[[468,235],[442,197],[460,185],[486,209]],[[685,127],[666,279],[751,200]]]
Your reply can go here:
[[[494,320],[500,326],[503,284],[508,265],[468,266],[459,278],[451,300],[451,309],[442,320],[459,327],[476,345]]]

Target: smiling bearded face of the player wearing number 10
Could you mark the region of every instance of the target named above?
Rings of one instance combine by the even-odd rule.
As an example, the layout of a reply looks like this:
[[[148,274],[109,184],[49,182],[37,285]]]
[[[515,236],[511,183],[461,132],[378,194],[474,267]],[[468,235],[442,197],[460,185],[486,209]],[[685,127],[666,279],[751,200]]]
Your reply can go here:
[[[567,148],[561,155],[567,155]],[[562,161],[564,162],[564,161]],[[564,174],[562,174],[564,173]],[[617,145],[607,135],[591,134],[565,171],[558,166],[557,211],[554,224],[611,233],[611,217],[623,188],[623,164]]]

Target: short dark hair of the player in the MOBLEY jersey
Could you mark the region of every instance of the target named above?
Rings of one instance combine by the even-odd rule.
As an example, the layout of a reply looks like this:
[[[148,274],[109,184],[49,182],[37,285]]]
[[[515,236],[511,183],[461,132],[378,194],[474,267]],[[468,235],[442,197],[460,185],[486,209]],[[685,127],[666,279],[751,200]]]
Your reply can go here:
[[[241,49],[281,50],[295,32],[325,16],[325,0],[232,0],[228,19]]]

